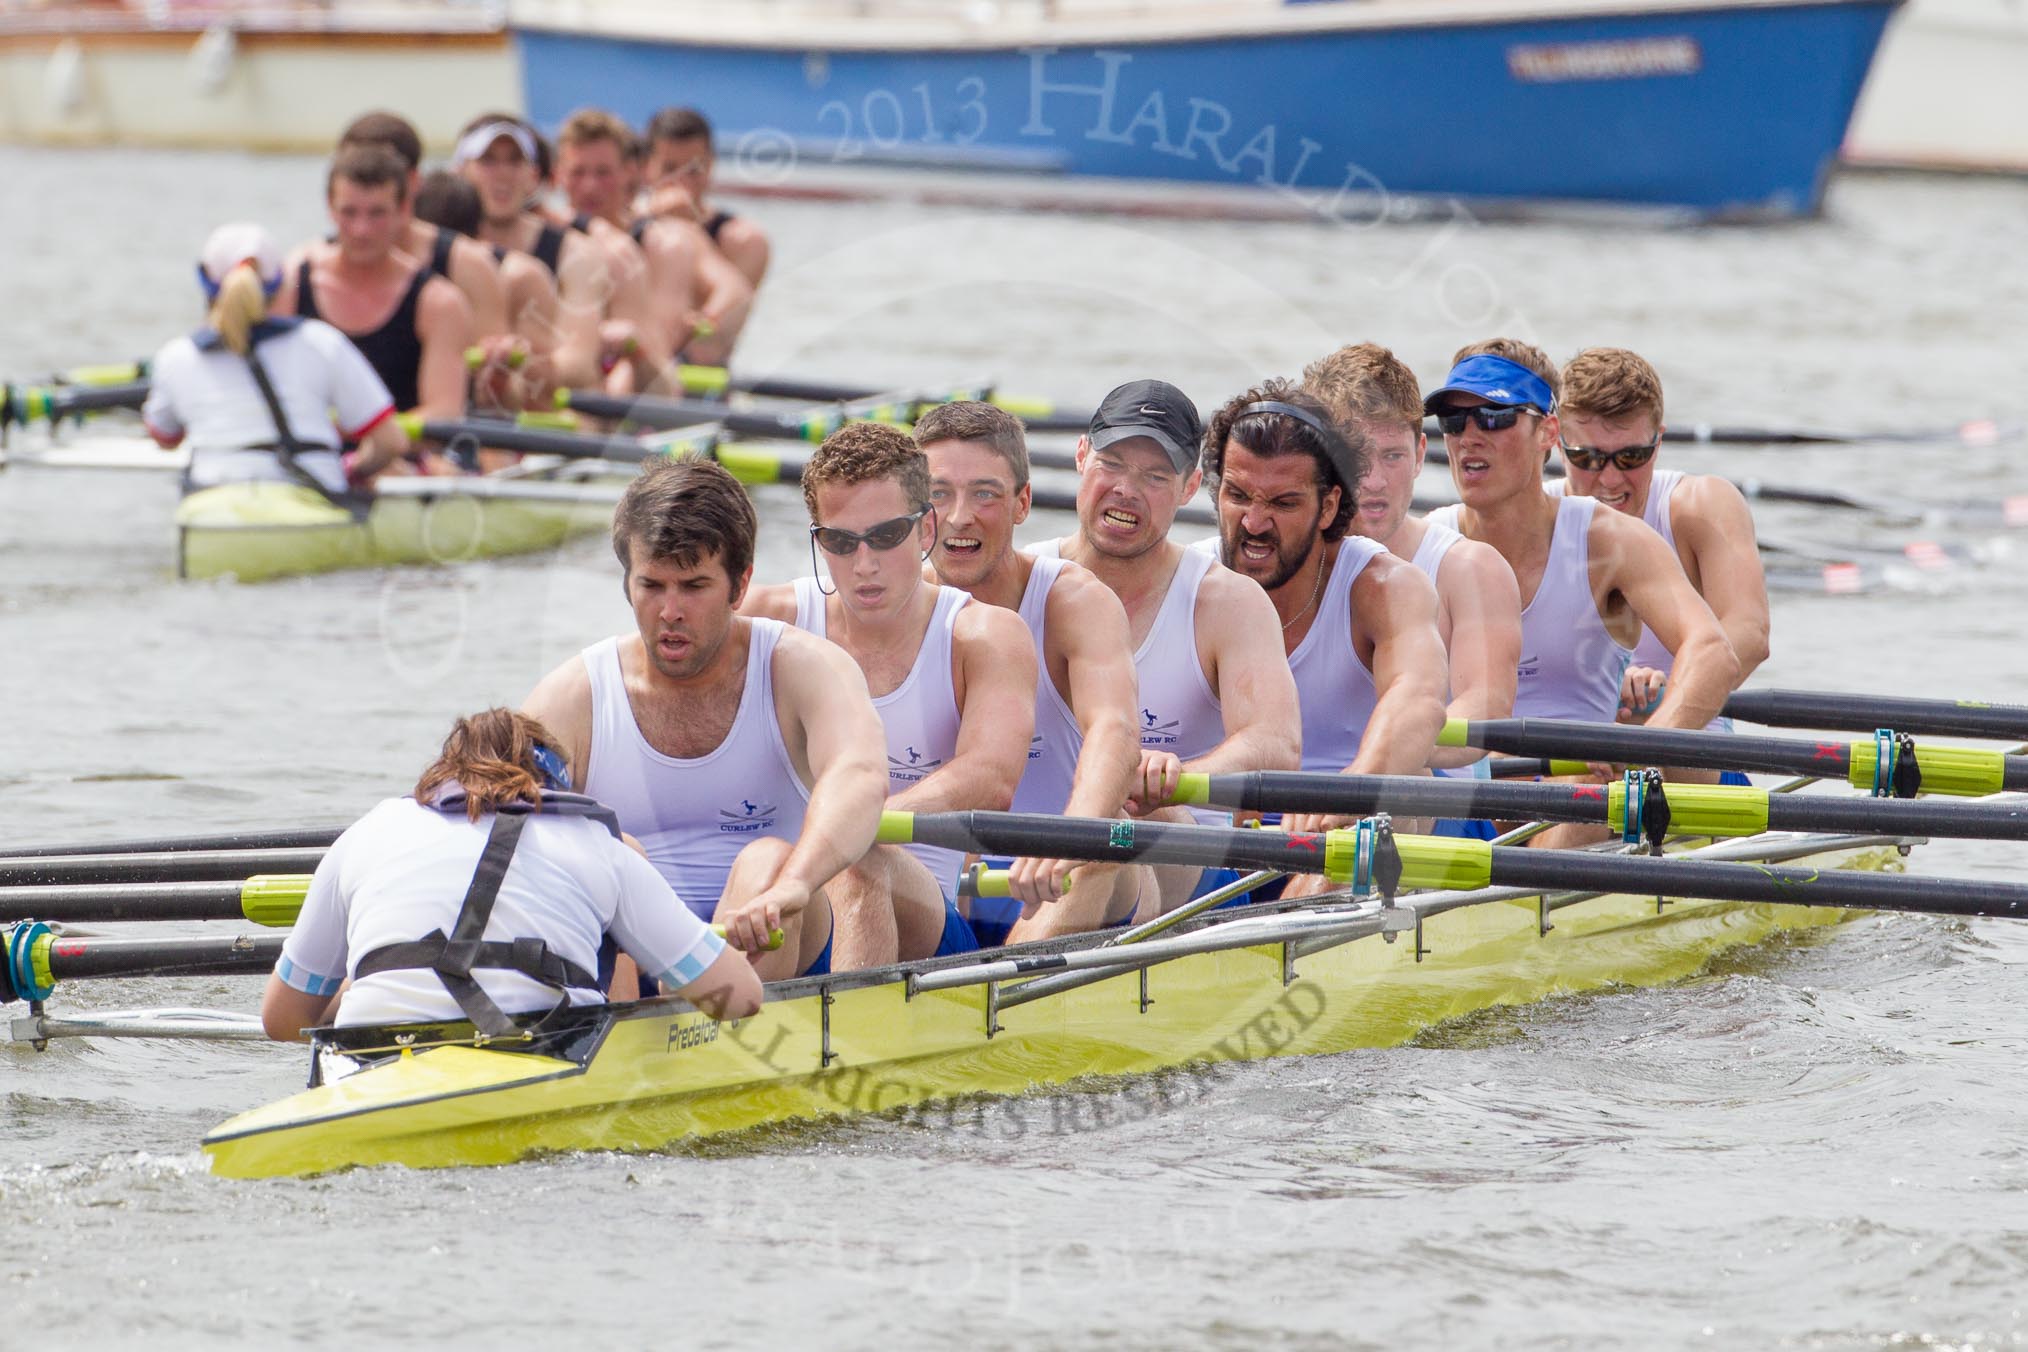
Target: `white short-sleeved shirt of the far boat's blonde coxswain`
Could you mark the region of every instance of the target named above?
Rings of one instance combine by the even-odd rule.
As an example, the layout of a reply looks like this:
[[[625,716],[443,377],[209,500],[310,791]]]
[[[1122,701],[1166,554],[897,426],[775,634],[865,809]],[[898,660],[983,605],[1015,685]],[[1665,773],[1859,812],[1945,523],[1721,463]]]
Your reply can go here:
[[[262,367],[288,414],[288,428],[310,450],[296,458],[331,491],[345,489],[339,444],[359,440],[393,414],[393,395],[353,347],[322,320],[302,320],[260,345]],[[170,339],[148,365],[148,401],[142,420],[164,440],[191,448],[191,486],[211,489],[239,480],[288,480],[270,450],[280,438],[274,414],[254,383],[245,357],[231,349],[203,351],[185,334]],[[333,426],[337,420],[337,426]],[[331,454],[320,454],[329,450]]]

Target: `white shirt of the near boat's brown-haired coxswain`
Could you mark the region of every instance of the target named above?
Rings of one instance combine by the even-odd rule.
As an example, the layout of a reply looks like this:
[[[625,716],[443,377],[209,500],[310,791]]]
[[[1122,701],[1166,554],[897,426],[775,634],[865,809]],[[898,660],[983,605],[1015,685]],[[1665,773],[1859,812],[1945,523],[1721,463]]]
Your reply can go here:
[[[458,908],[493,831],[414,799],[387,799],[337,839],[282,945],[276,975],[308,995],[329,995],[361,957],[458,922]],[[696,981],[726,943],[683,906],[647,859],[586,817],[531,815],[501,880],[485,938],[541,938],[586,971],[598,969],[606,932],[669,985]],[[556,993],[513,971],[475,973],[507,1013],[548,1009]],[[596,1003],[598,991],[570,991]],[[462,1018],[432,971],[361,977],[339,1005],[339,1024]]]

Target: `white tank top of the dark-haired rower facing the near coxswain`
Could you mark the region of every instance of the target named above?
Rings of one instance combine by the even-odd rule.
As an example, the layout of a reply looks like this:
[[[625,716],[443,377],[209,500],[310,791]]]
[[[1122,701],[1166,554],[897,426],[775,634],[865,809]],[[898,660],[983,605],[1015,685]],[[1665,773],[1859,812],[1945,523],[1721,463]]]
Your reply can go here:
[[[732,730],[710,754],[663,756],[641,736],[621,675],[619,639],[584,649],[592,677],[592,752],[584,793],[598,799],[647,849],[704,920],[726,890],[732,859],[746,841],[803,833],[809,788],[789,760],[775,722],[775,645],[787,624],[752,620],[746,639],[746,685]]]

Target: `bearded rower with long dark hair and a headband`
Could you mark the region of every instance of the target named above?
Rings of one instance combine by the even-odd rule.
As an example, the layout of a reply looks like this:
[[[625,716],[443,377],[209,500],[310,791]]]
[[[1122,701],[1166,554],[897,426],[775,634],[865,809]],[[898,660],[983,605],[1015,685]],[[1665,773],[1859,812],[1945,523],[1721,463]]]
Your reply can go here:
[[[1430,580],[1349,533],[1369,454],[1363,436],[1343,436],[1290,381],[1235,395],[1205,436],[1219,505],[1219,537],[1205,543],[1274,602],[1302,703],[1302,768],[1416,774],[1444,726],[1444,641]],[[1288,829],[1351,821],[1300,815]],[[1320,886],[1296,880],[1290,894]]]

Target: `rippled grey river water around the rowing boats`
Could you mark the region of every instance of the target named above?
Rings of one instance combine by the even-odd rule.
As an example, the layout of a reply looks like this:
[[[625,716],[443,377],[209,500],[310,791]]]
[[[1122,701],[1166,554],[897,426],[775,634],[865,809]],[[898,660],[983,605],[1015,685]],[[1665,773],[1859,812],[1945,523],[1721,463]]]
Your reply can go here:
[[[320,229],[320,166],[0,150],[0,373],[195,320],[225,217]],[[1848,178],[1817,223],[1121,223],[767,205],[750,371],[996,375],[1207,407],[1343,341],[1432,379],[1491,332],[1661,369],[1673,422],[2020,416],[2028,184]],[[1671,448],[1927,499],[2028,491],[2022,448]],[[760,495],[765,578],[807,559]],[[450,718],[629,622],[610,551],[260,588],[170,578],[166,474],[0,474],[0,841],[324,823]],[[1961,545],[1783,594],[1756,683],[2028,701],[2004,537],[1762,509],[1835,549]],[[1036,529],[1061,529],[1063,519]],[[1914,872],[2020,878],[2020,847]],[[1708,973],[1418,1044],[1235,1066],[1166,1113],[1036,1095],[929,1127],[505,1170],[223,1182],[197,1139],[300,1082],[270,1046],[0,1044],[0,1348],[763,1340],[982,1348],[2028,1346],[2028,928],[1870,918]],[[61,1009],[251,1009],[249,979],[79,983]],[[16,1007],[18,1011],[18,1007]],[[1144,1103],[1144,1101],[1134,1101]]]

